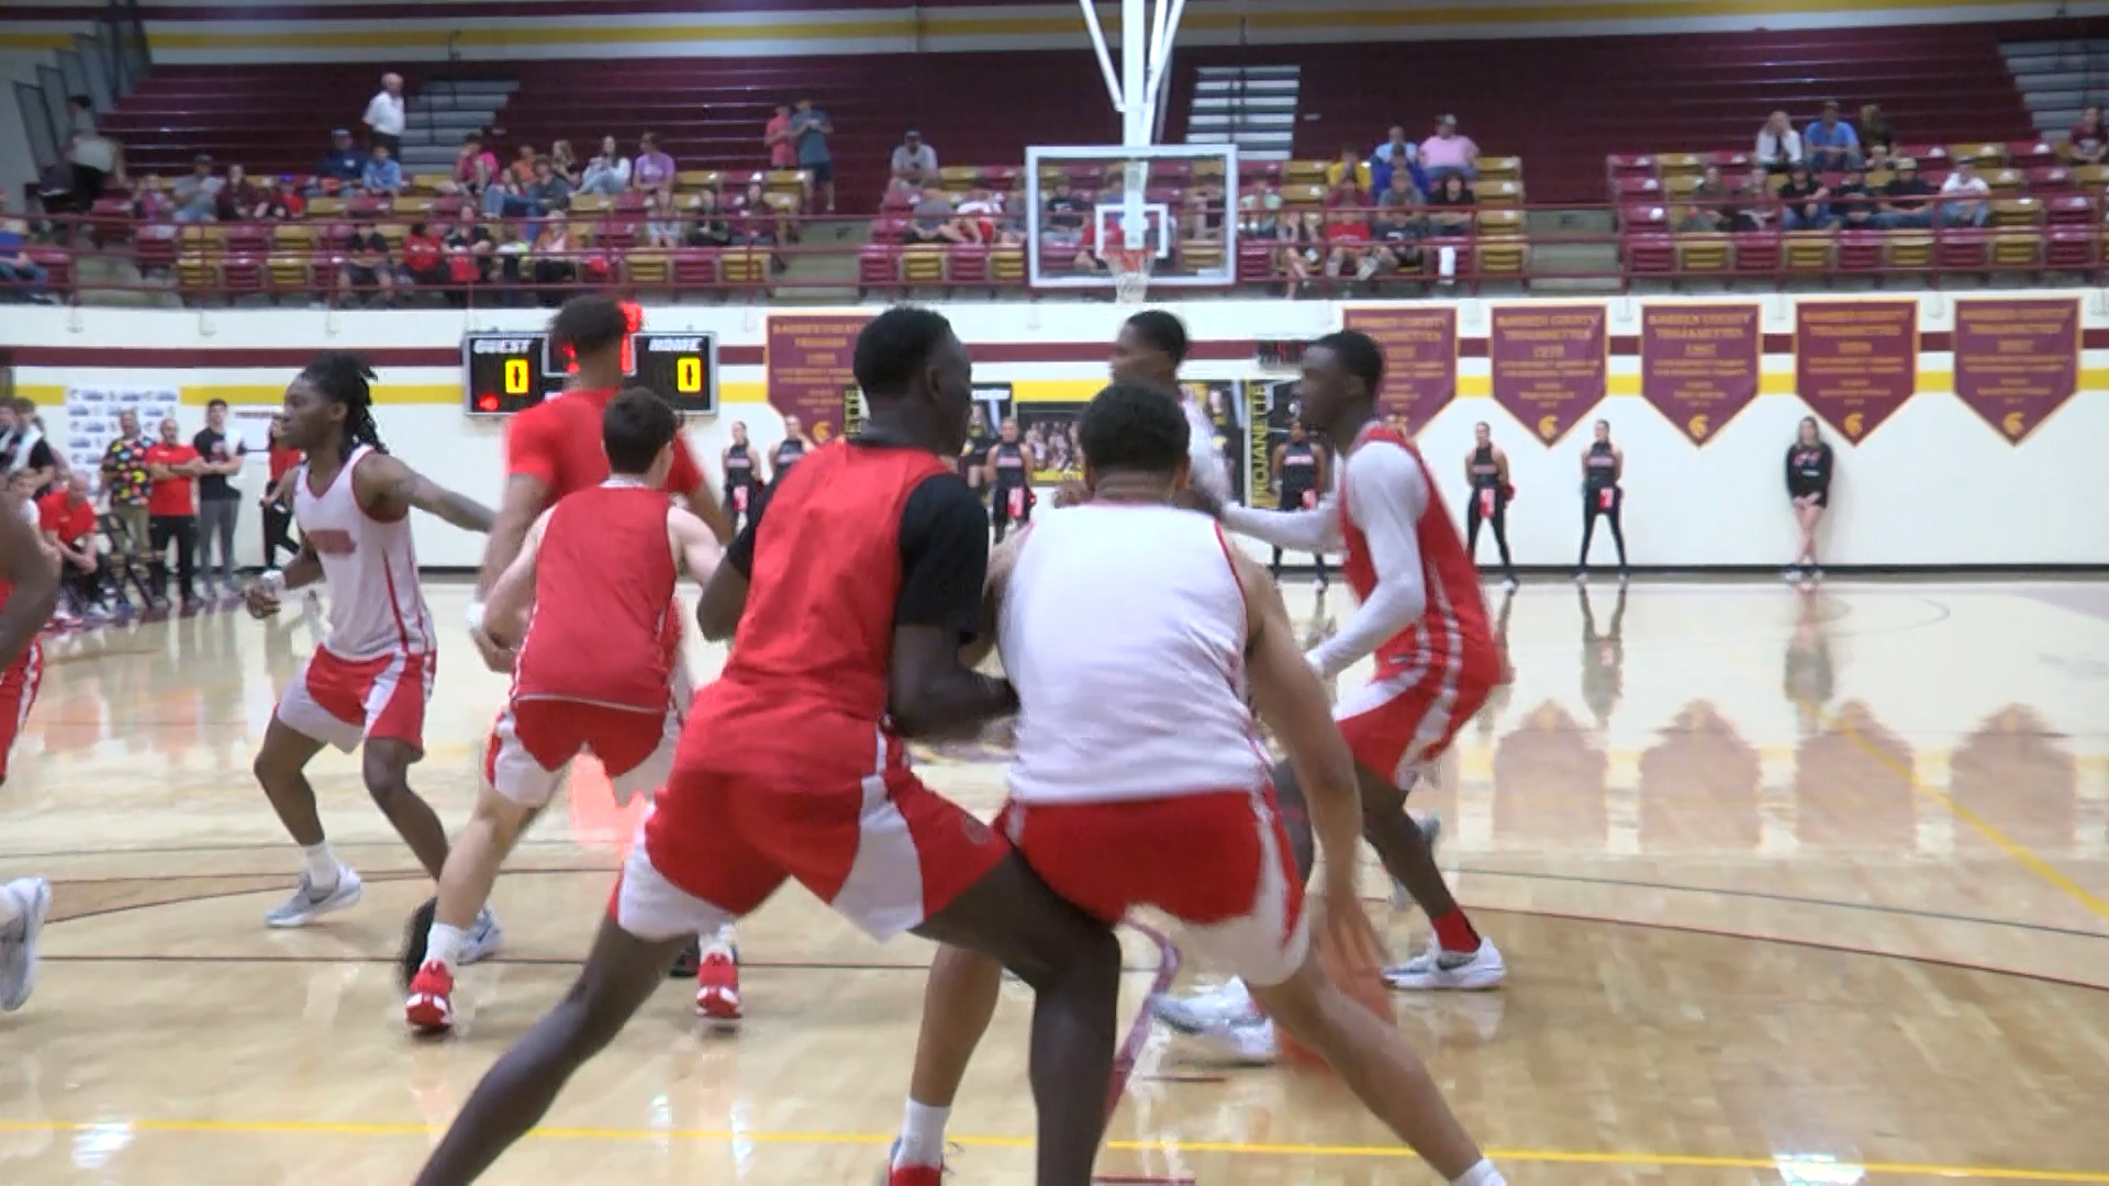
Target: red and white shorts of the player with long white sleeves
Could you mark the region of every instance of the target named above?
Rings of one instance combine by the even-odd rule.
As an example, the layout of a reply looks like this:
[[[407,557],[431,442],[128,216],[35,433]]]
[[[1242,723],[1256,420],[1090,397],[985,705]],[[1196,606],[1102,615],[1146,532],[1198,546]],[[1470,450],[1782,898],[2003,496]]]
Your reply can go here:
[[[1348,749],[1371,774],[1407,787],[1440,758],[1499,684],[1499,661],[1407,667],[1379,675],[1333,705]]]

